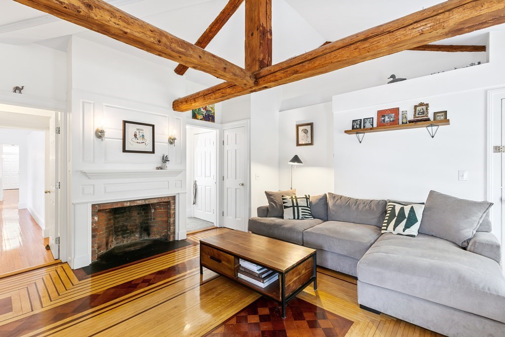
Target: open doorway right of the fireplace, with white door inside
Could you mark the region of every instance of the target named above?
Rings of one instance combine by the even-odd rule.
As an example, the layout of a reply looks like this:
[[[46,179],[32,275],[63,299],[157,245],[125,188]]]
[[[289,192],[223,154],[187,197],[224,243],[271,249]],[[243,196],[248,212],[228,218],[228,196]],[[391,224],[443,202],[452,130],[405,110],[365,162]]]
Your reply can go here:
[[[188,200],[186,231],[218,225],[218,130],[186,126]]]

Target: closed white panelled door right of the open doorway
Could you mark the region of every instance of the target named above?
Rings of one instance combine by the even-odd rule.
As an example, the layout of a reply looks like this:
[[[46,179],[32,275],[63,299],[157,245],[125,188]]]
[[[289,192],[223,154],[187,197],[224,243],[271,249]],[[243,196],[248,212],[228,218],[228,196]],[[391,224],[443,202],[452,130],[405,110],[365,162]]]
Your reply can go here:
[[[247,139],[245,126],[223,127],[223,225],[247,228]]]

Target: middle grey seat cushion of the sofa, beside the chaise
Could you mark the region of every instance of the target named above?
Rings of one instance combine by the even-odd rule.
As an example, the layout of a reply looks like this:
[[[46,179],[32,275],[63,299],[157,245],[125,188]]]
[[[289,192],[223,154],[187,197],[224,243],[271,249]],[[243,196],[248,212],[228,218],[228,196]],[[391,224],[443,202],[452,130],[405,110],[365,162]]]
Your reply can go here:
[[[376,226],[327,221],[304,232],[304,246],[359,260],[379,236]]]

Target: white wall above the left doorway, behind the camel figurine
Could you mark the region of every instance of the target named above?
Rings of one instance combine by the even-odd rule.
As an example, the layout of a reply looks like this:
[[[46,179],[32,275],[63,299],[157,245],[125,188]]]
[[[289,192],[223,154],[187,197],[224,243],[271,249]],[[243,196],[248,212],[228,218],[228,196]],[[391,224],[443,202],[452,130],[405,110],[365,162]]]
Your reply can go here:
[[[23,94],[66,100],[66,55],[37,44],[0,43],[0,91],[24,85]]]

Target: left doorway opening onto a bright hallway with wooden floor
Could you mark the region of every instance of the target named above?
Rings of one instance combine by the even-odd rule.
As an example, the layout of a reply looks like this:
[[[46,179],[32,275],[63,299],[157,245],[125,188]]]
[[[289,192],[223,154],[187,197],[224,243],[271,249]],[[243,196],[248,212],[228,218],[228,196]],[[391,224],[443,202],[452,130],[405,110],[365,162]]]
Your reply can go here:
[[[0,274],[4,274],[59,258],[58,247],[51,245],[58,236],[58,191],[54,183],[57,158],[51,155],[57,144],[50,135],[59,113],[8,105],[1,108]]]

